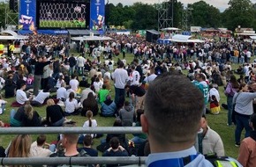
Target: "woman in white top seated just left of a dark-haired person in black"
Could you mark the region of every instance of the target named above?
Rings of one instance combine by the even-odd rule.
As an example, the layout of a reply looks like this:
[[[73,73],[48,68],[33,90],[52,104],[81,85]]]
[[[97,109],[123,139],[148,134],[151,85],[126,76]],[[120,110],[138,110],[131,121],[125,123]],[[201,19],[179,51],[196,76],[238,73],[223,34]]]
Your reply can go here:
[[[71,92],[69,98],[66,99],[65,103],[65,115],[75,115],[79,113],[78,100],[75,98],[74,92]]]

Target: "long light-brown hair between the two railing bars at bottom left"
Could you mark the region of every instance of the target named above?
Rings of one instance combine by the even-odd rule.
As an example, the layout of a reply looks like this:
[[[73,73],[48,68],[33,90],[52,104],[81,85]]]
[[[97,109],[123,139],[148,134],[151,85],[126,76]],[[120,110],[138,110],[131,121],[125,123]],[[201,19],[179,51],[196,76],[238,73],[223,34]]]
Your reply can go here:
[[[32,143],[31,136],[28,134],[19,134],[12,141],[8,157],[28,157]]]

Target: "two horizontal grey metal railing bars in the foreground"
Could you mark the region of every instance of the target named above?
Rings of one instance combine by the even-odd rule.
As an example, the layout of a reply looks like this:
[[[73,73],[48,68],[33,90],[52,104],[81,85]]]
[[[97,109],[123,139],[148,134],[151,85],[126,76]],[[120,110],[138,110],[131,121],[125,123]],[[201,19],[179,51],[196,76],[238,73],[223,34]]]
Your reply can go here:
[[[141,127],[2,127],[0,134],[141,134]],[[0,165],[39,165],[39,164],[136,164],[145,163],[146,156],[125,157],[3,157]]]

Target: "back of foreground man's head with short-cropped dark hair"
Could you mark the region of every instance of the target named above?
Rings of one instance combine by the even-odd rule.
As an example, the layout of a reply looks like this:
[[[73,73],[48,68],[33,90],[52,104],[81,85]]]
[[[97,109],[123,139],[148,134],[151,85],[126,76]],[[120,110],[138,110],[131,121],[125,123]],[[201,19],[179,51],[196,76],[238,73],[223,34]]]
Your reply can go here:
[[[149,139],[162,145],[193,142],[203,107],[202,93],[185,76],[175,72],[158,76],[145,99]]]

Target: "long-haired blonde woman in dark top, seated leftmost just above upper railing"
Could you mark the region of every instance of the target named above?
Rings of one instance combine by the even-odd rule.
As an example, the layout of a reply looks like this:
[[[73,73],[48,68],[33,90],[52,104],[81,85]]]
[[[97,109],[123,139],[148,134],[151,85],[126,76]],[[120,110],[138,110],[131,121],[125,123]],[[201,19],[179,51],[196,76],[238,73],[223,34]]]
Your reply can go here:
[[[41,117],[34,111],[32,105],[25,105],[25,116],[22,120],[23,127],[41,127]]]

